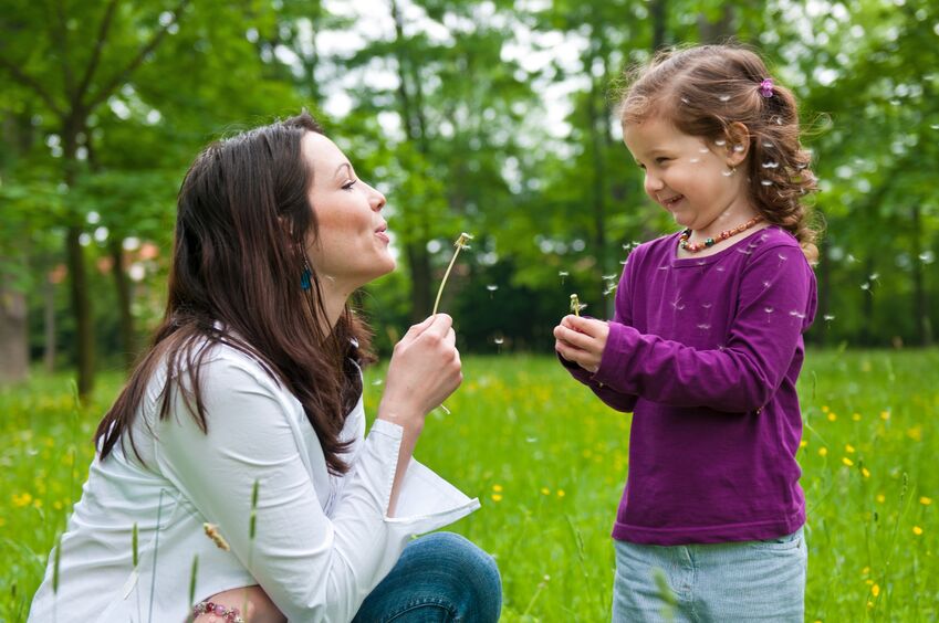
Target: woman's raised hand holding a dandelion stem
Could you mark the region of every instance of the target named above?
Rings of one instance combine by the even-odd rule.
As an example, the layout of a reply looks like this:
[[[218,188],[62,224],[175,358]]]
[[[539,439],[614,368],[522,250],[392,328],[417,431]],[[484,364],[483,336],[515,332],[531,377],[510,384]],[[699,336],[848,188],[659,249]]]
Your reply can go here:
[[[379,419],[419,431],[424,416],[460,387],[462,365],[452,324],[447,314],[430,316],[395,346]]]

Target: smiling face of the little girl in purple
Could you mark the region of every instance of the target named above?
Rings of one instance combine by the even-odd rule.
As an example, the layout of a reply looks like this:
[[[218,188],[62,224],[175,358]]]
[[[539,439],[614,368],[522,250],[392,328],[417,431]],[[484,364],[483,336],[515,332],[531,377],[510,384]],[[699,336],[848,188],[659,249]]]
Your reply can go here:
[[[747,158],[747,146],[716,145],[653,117],[626,124],[623,140],[646,172],[646,193],[695,231],[729,229],[755,214],[745,173],[731,172]],[[739,222],[738,222],[739,221]]]

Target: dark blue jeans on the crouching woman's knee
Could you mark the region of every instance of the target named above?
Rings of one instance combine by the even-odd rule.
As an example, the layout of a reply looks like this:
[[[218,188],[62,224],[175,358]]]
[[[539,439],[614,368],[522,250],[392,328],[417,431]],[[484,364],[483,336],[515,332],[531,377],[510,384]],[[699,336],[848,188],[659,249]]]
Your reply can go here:
[[[405,547],[353,623],[494,623],[502,580],[491,556],[452,532],[432,532]]]

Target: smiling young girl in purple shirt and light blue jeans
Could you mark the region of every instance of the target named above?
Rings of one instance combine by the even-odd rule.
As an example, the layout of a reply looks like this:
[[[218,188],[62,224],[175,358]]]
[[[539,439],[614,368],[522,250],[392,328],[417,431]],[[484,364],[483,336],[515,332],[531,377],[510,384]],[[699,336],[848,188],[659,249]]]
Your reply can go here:
[[[682,229],[633,252],[612,321],[554,329],[574,378],[634,413],[613,619],[658,621],[675,598],[679,621],[801,622],[795,382],[817,251],[795,101],[754,53],[706,45],[636,71],[620,120]]]

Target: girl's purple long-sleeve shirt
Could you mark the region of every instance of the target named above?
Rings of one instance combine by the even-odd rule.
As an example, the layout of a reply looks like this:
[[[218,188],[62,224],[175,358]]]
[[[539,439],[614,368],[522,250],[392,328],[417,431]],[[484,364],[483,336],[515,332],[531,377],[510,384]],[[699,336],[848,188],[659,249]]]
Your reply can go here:
[[[795,381],[815,277],[776,226],[707,257],[678,234],[637,247],[595,374],[571,373],[633,411],[613,537],[681,545],[774,538],[805,522]]]

